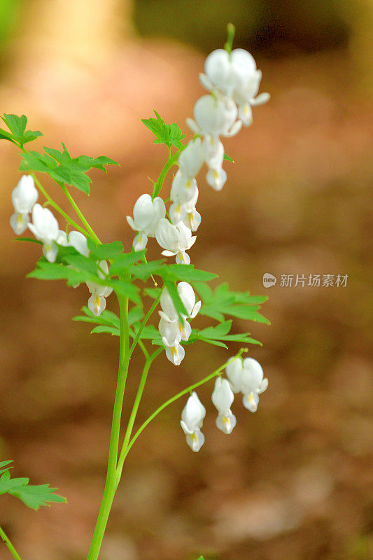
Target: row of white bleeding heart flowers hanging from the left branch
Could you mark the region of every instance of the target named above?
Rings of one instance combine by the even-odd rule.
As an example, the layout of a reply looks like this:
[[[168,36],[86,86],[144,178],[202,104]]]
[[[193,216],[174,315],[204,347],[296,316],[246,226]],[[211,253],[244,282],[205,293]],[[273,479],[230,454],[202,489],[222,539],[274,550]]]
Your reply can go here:
[[[35,188],[33,177],[31,175],[22,176],[12,192],[15,214],[10,217],[10,225],[15,234],[21,235],[29,228],[36,239],[43,243],[43,255],[49,262],[55,262],[58,246],[73,247],[78,253],[87,257],[90,251],[85,235],[77,231],[71,231],[67,234],[60,230],[52,212],[48,208],[43,208],[41,204],[36,204],[36,200],[38,200],[38,191]],[[30,213],[32,222],[29,218]],[[98,274],[100,278],[104,279],[104,274],[108,274],[108,263],[106,260],[102,260],[98,265],[101,269]],[[88,300],[88,308],[94,315],[98,316],[104,311],[106,307],[105,298],[111,294],[113,288],[93,282],[87,282],[87,288],[92,294]]]

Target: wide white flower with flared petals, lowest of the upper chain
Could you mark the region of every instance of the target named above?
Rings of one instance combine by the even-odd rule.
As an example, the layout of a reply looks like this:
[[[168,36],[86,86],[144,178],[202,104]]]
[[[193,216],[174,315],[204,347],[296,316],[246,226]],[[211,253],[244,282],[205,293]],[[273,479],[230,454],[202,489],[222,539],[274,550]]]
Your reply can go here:
[[[162,255],[171,257],[176,255],[176,262],[180,265],[189,265],[190,256],[185,252],[195,243],[197,237],[183,222],[171,224],[167,218],[162,218],[158,223],[155,238],[164,251]]]

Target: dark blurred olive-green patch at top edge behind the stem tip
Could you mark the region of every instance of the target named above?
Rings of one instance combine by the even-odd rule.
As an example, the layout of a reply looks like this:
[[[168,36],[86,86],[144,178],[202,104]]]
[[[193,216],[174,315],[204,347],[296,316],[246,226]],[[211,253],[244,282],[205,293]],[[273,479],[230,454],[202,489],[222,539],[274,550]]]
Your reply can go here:
[[[134,0],[140,34],[169,36],[206,52],[222,45],[227,22],[236,26],[234,43],[272,54],[313,52],[344,45],[349,25],[342,0]]]

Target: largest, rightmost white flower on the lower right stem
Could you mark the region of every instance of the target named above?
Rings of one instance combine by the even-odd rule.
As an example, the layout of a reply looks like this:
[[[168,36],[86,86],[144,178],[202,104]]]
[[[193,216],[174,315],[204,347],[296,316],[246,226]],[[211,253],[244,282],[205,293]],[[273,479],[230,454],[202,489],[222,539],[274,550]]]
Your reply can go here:
[[[255,412],[258,409],[259,395],[268,386],[262,366],[254,358],[237,358],[225,368],[234,393],[241,392],[244,407]]]

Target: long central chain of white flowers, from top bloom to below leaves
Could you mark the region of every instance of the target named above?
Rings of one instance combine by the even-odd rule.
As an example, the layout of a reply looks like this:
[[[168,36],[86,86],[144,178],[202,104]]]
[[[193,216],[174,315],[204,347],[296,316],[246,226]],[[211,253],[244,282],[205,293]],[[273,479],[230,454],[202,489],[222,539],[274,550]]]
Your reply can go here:
[[[196,209],[198,187],[196,176],[206,163],[208,168],[206,182],[215,190],[221,190],[227,180],[223,169],[224,146],[220,137],[237,134],[242,123],[252,123],[251,106],[267,102],[269,94],[258,93],[262,74],[256,69],[255,60],[246,50],[236,49],[231,53],[218,49],[211,52],[204,65],[205,73],[200,74],[202,84],[211,93],[198,99],[195,104],[195,120],[188,119],[188,125],[195,132],[192,139],[181,151],[178,158],[178,171],[171,184],[169,199],[171,204],[166,217],[166,207],[161,197],[141,195],[134,205],[134,217],[127,216],[127,222],[136,231],[133,247],[141,251],[148,243],[148,237],[155,237],[162,247],[162,255],[176,256],[178,264],[190,264],[188,251],[197,237],[201,223],[201,214]],[[179,295],[190,297],[195,305],[192,287],[184,291],[185,282],[178,284]],[[165,311],[161,299],[161,321],[159,325],[166,355],[175,365],[179,365],[185,356],[181,340],[185,338],[189,323],[184,318],[184,325],[178,323],[176,309],[166,289],[163,291],[164,302],[171,311]],[[189,301],[189,300],[188,300]],[[185,303],[185,302],[184,302]],[[172,306],[172,309],[171,309]],[[188,309],[185,306],[185,309]],[[188,318],[193,317],[190,314]],[[188,328],[186,327],[188,325]],[[189,335],[188,335],[189,336]]]

